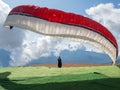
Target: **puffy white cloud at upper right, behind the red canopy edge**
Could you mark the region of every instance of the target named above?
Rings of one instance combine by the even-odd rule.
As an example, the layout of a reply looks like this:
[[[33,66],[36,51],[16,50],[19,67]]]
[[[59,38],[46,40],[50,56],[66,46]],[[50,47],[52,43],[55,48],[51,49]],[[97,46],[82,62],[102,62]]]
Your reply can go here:
[[[112,3],[99,4],[87,9],[86,13],[106,26],[115,35],[120,45],[120,8],[115,8]]]

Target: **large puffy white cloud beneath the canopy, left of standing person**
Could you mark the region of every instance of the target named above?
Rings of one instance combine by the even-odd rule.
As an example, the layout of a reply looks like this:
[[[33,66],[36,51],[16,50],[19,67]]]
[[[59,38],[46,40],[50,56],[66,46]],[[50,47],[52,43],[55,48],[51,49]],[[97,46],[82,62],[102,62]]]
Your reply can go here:
[[[77,42],[42,36],[28,31],[26,33],[26,39],[24,39],[23,46],[12,51],[12,60],[10,61],[10,65],[25,65],[40,57],[47,57],[51,54],[59,56],[59,54],[64,50],[74,51],[79,47],[80,43]]]

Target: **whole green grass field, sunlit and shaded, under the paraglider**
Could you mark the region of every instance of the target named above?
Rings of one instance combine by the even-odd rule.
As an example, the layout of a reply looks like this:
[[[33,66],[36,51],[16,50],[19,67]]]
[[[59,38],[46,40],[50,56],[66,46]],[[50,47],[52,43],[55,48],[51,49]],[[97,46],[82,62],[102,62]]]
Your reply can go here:
[[[120,66],[0,68],[0,90],[120,90]]]

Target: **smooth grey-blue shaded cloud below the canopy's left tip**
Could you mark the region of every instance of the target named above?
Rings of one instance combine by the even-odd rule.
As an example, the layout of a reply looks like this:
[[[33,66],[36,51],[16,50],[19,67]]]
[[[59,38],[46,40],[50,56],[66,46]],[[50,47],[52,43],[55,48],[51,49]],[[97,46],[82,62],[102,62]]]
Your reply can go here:
[[[0,48],[15,49],[20,47],[24,37],[24,32],[20,29],[7,30],[2,27],[0,28]]]

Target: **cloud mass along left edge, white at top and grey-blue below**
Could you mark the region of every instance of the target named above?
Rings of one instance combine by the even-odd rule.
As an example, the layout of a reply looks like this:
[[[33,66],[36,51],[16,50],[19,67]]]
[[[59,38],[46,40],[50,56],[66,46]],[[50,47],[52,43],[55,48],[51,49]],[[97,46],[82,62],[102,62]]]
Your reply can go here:
[[[13,49],[21,46],[24,32],[14,28],[9,30],[3,27],[5,19],[10,12],[10,7],[0,0],[0,48]]]

